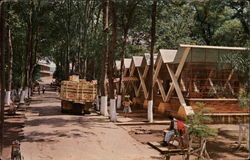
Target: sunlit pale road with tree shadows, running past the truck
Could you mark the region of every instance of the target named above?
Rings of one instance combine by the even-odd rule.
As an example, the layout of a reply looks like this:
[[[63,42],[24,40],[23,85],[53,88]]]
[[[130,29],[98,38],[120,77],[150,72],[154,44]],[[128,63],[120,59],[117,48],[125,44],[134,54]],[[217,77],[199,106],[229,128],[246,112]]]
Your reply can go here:
[[[96,114],[63,115],[54,92],[33,97],[21,152],[25,160],[149,160],[159,153]]]

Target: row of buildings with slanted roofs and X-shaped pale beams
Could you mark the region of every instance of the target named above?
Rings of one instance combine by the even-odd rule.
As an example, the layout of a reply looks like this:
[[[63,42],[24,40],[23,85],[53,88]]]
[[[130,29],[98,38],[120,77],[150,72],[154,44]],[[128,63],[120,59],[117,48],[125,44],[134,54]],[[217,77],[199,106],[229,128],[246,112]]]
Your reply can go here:
[[[211,108],[206,114],[213,116],[215,122],[223,119],[225,123],[234,123],[239,118],[248,121],[249,109],[240,108],[237,99],[244,84],[231,65],[223,62],[223,57],[239,52],[249,49],[199,45],[160,49],[154,54],[154,112],[186,119],[202,106]],[[115,64],[118,77],[121,62]],[[124,59],[122,93],[144,108],[151,76],[149,67],[149,53]]]

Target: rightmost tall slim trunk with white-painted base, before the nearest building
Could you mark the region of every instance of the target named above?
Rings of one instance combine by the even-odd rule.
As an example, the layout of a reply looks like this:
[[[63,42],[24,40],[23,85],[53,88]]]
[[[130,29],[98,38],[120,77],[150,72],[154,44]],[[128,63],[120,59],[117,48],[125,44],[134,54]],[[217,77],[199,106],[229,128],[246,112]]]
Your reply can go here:
[[[151,13],[151,45],[150,45],[150,68],[149,68],[149,92],[148,92],[148,121],[153,122],[153,75],[154,75],[154,45],[155,45],[155,26],[156,26],[156,7],[157,0],[153,1]]]

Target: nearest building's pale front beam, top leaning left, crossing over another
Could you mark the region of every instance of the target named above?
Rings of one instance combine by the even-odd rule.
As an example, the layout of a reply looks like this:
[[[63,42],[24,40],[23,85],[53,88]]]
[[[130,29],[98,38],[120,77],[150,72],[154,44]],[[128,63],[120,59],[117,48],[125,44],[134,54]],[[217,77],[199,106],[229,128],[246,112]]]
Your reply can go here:
[[[181,105],[185,107],[185,106],[187,106],[187,104],[186,104],[186,102],[185,102],[185,100],[184,100],[184,97],[183,97],[183,94],[182,94],[182,92],[181,92],[180,86],[179,86],[179,84],[178,84],[177,78],[176,78],[174,72],[172,71],[172,69],[169,67],[169,65],[166,64],[166,66],[167,66],[169,75],[170,75],[170,77],[171,77],[171,79],[172,79],[172,85],[173,85],[173,87],[174,87],[174,89],[175,89],[175,91],[176,91],[176,93],[177,93],[177,96],[178,96],[178,98],[179,98],[179,101],[180,101]],[[167,98],[167,97],[166,97],[166,98]]]

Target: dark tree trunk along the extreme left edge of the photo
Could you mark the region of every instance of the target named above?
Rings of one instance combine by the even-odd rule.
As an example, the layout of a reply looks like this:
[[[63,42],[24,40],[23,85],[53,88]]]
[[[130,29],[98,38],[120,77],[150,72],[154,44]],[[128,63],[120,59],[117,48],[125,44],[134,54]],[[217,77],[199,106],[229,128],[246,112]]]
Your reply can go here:
[[[1,98],[1,122],[0,122],[0,152],[3,151],[4,130],[4,2],[0,1],[0,98]]]

